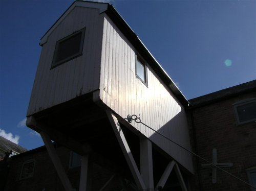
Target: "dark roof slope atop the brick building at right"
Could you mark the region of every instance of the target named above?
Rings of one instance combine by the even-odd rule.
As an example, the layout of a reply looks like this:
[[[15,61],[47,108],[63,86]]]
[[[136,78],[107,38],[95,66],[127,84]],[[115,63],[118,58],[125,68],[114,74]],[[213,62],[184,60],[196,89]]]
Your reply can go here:
[[[209,93],[209,94],[206,94],[205,96],[191,99],[189,100],[189,103],[191,104],[192,107],[198,107],[198,106],[218,102],[218,101],[228,99],[234,96],[238,96],[239,94],[248,93],[248,92],[255,92],[255,97],[256,97],[256,80],[246,82],[237,86],[229,87],[226,89],[222,89],[220,91],[216,91],[213,93]]]

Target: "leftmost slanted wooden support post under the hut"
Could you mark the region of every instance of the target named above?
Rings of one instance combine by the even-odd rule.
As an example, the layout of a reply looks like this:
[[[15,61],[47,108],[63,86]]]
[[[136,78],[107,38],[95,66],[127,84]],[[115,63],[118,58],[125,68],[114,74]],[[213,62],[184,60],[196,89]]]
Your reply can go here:
[[[42,140],[45,142],[46,149],[50,155],[53,165],[55,166],[55,169],[59,175],[60,181],[62,182],[64,189],[66,191],[73,191],[72,185],[63,166],[61,165],[60,159],[52,145],[50,137],[44,132],[40,132],[40,135],[42,137]]]

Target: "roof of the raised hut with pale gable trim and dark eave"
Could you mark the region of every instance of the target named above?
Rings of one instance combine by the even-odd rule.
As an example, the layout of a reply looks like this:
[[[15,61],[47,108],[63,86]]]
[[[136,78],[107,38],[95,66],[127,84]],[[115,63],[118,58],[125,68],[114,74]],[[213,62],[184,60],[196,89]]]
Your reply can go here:
[[[154,69],[156,74],[161,78],[164,84],[172,91],[175,97],[182,103],[183,106],[187,107],[189,102],[175,85],[174,81],[168,76],[166,71],[157,62],[154,56],[147,50],[146,46],[142,43],[136,33],[131,29],[131,27],[125,22],[122,16],[117,12],[117,10],[108,3],[98,3],[98,2],[88,2],[88,1],[75,1],[53,24],[53,26],[42,36],[40,39],[40,45],[47,42],[48,36],[54,31],[54,29],[61,23],[63,19],[75,8],[75,7],[89,7],[99,9],[99,14],[106,13],[119,30],[125,35],[125,37],[136,47],[136,50],[140,55],[147,61],[147,63]]]

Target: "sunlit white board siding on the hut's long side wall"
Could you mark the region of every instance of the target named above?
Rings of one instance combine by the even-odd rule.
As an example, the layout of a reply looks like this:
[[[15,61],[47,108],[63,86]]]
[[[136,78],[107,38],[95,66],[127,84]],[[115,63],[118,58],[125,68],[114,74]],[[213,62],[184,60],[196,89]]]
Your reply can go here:
[[[150,66],[147,68],[148,87],[136,77],[135,51],[135,47],[104,14],[100,98],[121,117],[136,114],[146,125],[190,149],[183,106]],[[132,125],[193,172],[191,155],[187,151],[142,124],[133,122]]]

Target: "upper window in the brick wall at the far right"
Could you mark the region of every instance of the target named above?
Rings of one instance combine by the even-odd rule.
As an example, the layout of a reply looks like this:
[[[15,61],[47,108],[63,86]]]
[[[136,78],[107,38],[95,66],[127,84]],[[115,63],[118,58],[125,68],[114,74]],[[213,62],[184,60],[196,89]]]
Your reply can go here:
[[[233,106],[238,125],[256,122],[256,98],[242,100]]]

